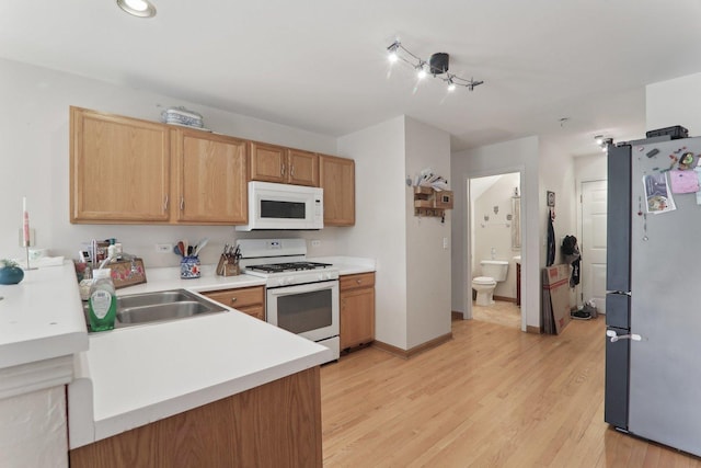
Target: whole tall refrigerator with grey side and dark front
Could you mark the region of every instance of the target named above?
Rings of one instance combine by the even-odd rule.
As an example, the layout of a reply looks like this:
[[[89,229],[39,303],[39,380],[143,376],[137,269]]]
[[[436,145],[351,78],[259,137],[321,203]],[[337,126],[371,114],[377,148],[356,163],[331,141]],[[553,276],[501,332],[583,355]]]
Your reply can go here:
[[[605,420],[701,456],[701,138],[668,138],[608,151]]]

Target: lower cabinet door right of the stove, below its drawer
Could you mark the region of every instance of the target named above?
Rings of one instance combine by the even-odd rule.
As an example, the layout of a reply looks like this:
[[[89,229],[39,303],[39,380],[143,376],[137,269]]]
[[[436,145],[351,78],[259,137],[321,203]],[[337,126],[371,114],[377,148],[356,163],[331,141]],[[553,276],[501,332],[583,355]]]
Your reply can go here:
[[[375,340],[375,288],[341,292],[341,349]]]

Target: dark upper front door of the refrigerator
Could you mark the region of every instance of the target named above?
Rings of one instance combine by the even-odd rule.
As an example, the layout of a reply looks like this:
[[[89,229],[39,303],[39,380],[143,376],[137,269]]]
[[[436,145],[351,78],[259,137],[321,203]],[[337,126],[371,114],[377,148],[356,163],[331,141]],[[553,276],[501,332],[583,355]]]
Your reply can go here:
[[[608,216],[606,236],[606,289],[630,292],[630,146],[609,147],[608,150]]]

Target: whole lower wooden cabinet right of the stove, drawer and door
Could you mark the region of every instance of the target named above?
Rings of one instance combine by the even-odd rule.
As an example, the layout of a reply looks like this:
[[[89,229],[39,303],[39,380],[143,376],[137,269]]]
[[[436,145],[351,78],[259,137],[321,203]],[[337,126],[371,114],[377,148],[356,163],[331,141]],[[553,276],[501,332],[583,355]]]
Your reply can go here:
[[[375,340],[375,273],[345,275],[341,289],[341,349]]]

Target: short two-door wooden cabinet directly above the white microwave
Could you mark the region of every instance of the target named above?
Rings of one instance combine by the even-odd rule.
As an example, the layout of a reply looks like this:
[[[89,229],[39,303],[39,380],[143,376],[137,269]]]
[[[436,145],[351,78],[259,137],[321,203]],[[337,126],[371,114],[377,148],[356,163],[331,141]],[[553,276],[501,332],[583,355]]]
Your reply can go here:
[[[251,141],[251,180],[319,186],[314,152]]]

